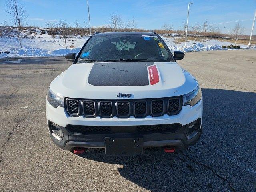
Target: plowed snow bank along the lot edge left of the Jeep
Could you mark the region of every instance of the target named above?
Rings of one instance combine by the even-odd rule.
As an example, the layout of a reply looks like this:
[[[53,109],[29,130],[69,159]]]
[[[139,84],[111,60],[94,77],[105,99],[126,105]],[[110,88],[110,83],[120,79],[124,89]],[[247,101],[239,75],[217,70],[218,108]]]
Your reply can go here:
[[[78,53],[80,48],[74,49],[57,49],[54,51],[43,50],[40,48],[12,48],[9,50],[9,54],[2,53],[1,57],[47,57],[47,56],[63,56],[67,53]]]

